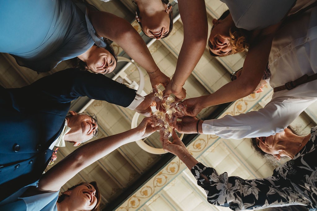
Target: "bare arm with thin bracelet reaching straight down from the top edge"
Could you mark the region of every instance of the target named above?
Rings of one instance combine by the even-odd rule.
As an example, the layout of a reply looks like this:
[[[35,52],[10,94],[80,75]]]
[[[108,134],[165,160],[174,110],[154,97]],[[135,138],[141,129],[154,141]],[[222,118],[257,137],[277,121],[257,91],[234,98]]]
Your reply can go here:
[[[178,55],[173,82],[166,87],[165,94],[173,93],[179,99],[186,94],[182,91],[187,78],[191,75],[207,43],[208,23],[204,0],[179,0],[179,14],[184,27],[184,41]]]

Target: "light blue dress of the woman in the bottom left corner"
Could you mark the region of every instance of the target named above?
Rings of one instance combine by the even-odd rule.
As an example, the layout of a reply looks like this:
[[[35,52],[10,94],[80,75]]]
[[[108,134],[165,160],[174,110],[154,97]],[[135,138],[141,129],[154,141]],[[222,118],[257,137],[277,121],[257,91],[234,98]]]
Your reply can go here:
[[[57,211],[56,202],[59,191],[20,197],[30,186],[37,186],[38,181],[29,184],[0,202],[0,210],[10,211]]]

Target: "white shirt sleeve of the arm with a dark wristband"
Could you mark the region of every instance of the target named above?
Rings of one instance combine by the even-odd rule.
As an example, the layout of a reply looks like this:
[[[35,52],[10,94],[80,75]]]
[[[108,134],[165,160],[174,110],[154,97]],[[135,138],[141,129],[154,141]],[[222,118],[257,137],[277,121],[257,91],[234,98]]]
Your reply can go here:
[[[310,104],[315,97],[280,97],[272,99],[263,109],[221,119],[205,120],[204,134],[224,139],[270,136],[282,132]]]

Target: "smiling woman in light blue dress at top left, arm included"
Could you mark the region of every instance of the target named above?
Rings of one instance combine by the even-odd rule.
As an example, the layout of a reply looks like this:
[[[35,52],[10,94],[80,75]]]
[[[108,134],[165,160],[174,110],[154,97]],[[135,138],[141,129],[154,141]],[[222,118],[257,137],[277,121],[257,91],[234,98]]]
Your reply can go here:
[[[0,52],[38,72],[63,60],[79,58],[87,69],[109,73],[116,59],[103,38],[116,42],[149,74],[152,86],[169,81],[155,64],[137,31],[124,19],[71,0],[0,3]]]

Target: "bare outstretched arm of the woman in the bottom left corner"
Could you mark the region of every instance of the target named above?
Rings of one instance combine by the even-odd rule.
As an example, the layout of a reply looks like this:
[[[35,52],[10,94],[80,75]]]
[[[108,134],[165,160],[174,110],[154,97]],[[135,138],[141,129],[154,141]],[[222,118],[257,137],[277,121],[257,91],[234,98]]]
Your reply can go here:
[[[136,128],[81,146],[46,172],[40,179],[38,189],[41,191],[61,189],[61,186],[88,165],[126,143],[140,140],[152,134],[155,128],[151,125],[151,118],[145,118]]]

